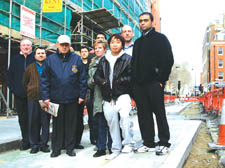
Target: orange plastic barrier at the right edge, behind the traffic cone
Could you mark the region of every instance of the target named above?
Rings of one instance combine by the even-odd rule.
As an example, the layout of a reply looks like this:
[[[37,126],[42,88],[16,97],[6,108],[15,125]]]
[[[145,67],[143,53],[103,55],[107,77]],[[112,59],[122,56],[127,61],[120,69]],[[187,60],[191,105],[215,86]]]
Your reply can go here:
[[[206,112],[221,115],[224,98],[224,89],[220,88],[205,93],[200,100]]]

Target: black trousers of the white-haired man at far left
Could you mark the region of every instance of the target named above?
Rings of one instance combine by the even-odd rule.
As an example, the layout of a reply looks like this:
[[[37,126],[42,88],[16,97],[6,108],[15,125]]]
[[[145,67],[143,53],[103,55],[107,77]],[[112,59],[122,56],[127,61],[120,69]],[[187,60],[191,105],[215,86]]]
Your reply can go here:
[[[19,125],[22,134],[22,145],[29,146],[27,98],[15,96],[15,100],[16,111],[18,113]]]

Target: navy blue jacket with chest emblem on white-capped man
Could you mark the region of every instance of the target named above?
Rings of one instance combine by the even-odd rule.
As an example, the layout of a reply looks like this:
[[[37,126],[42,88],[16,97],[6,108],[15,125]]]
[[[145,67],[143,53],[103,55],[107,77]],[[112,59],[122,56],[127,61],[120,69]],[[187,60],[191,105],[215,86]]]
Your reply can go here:
[[[42,100],[54,103],[71,103],[85,98],[87,74],[81,57],[75,53],[51,54],[43,64],[41,75]]]

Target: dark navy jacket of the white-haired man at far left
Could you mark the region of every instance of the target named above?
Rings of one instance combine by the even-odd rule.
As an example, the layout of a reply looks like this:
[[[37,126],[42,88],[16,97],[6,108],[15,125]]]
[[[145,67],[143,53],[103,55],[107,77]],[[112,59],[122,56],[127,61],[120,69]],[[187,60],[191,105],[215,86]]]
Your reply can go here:
[[[26,92],[22,86],[23,73],[25,72],[26,67],[34,61],[34,53],[29,54],[26,58],[21,54],[11,58],[7,72],[7,86],[15,96],[21,98],[26,97]]]

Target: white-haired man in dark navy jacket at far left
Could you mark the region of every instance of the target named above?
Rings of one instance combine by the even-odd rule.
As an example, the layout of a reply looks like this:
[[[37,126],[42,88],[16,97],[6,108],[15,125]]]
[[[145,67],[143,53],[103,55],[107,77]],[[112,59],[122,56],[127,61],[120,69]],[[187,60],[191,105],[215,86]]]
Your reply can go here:
[[[7,85],[15,96],[16,111],[18,113],[22,134],[20,150],[27,150],[30,148],[28,138],[27,96],[22,86],[22,78],[26,67],[34,61],[32,42],[28,39],[23,39],[20,42],[20,53],[12,57],[7,73]]]

